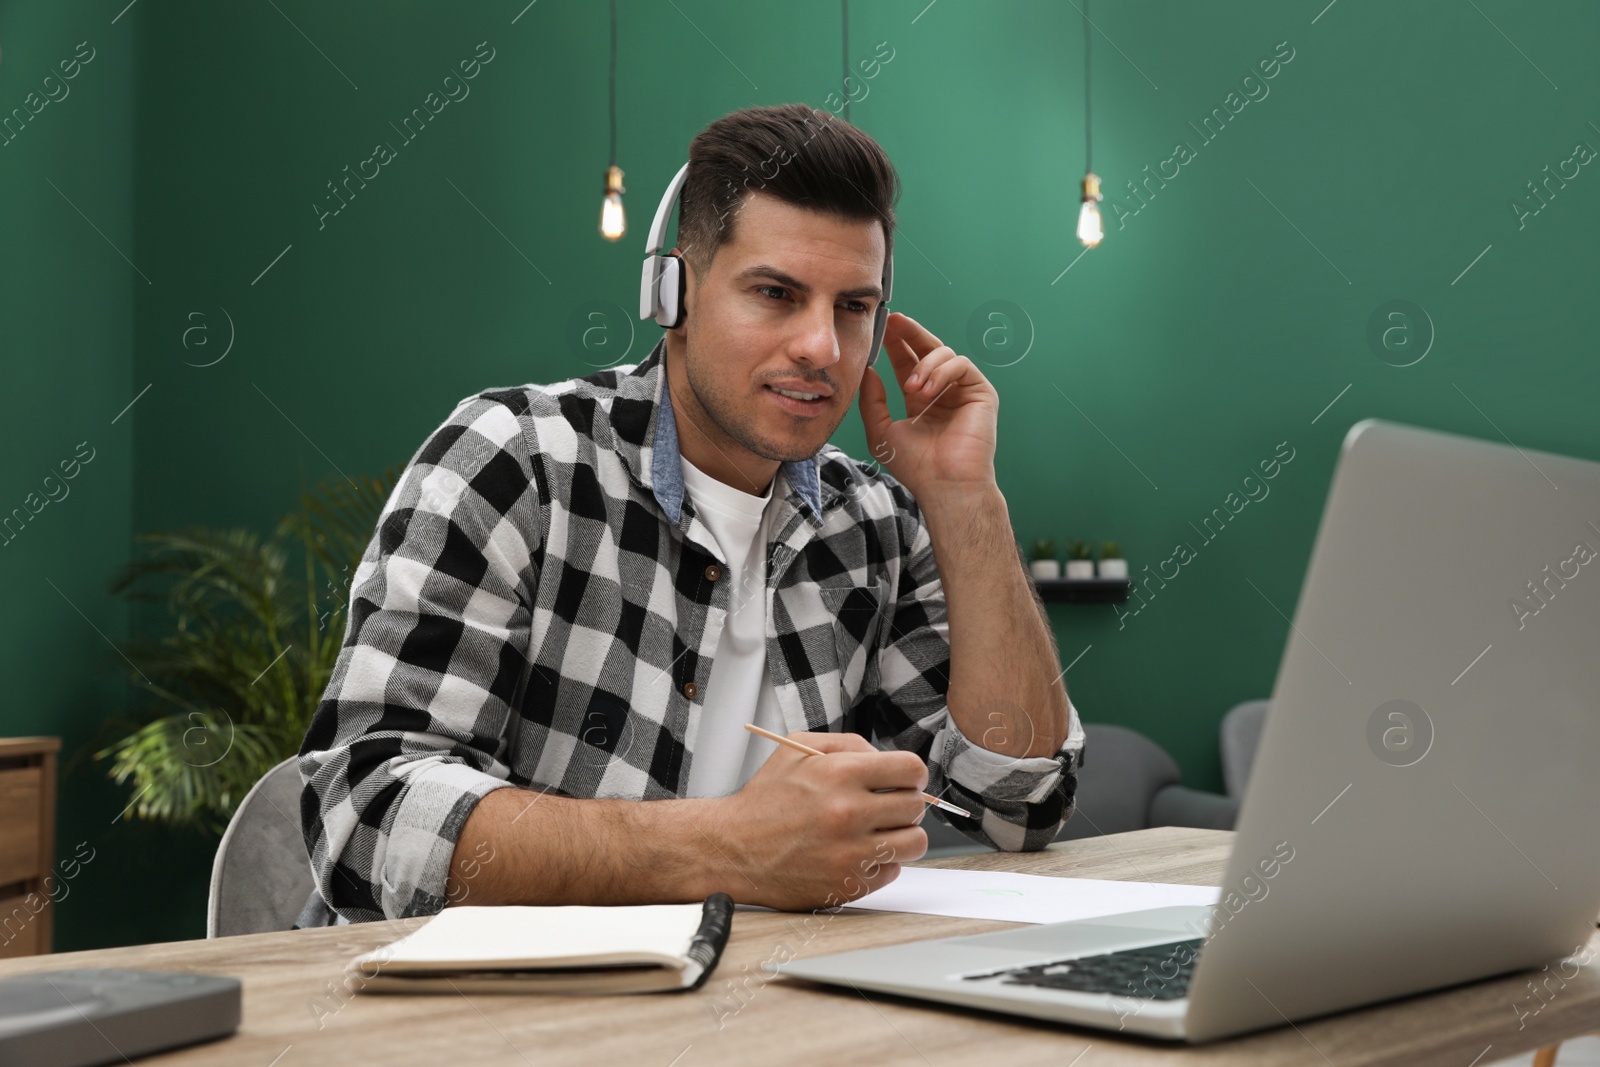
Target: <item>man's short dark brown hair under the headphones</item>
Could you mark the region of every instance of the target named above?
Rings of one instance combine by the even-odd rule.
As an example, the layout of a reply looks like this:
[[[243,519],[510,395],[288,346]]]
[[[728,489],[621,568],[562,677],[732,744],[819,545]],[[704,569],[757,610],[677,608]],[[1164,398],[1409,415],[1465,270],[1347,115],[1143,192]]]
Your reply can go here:
[[[883,253],[894,251],[899,176],[883,147],[830,112],[805,104],[746,107],[690,142],[678,203],[678,248],[696,274],[734,238],[739,208],[760,190],[842,219],[877,219]]]

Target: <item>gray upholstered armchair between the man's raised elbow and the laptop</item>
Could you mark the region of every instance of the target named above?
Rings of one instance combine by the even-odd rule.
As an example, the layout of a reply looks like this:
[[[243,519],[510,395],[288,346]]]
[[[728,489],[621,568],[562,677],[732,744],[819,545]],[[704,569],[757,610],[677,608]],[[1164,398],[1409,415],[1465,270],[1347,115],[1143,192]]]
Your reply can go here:
[[[1189,789],[1181,784],[1181,777],[1173,757],[1144,734],[1110,723],[1085,723],[1077,811],[1061,827],[1056,840],[1074,841],[1155,825],[1232,830],[1238,801]],[[931,816],[930,811],[930,817],[923,821],[930,857],[987,851]]]

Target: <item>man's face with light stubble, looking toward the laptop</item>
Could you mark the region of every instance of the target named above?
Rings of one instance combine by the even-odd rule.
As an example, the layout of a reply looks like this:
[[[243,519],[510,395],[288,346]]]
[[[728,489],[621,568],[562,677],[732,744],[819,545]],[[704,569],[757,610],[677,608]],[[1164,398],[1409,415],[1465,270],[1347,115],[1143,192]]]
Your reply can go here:
[[[762,192],[726,224],[734,240],[706,277],[688,270],[680,330],[690,387],[728,443],[762,459],[808,459],[861,386],[882,301],[883,227]]]

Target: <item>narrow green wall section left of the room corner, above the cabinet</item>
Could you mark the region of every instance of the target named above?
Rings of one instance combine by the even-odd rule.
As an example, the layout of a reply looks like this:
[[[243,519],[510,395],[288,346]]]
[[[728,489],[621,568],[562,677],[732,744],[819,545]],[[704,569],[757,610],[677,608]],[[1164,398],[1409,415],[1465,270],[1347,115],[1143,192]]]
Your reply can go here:
[[[10,118],[0,133],[0,518],[13,520],[0,534],[0,734],[62,739],[58,857],[93,859],[56,883],[58,947],[187,929],[136,883],[179,889],[174,861],[184,877],[203,869],[203,854],[168,835],[114,825],[130,798],[83,757],[126,697],[112,641],[125,641],[128,609],[106,584],[133,536],[142,411],[123,408],[138,392],[134,309],[149,288],[128,262],[144,267],[133,187],[139,27],[131,16],[112,24],[117,11],[104,6],[0,3],[0,118]],[[74,467],[78,454],[88,462]]]

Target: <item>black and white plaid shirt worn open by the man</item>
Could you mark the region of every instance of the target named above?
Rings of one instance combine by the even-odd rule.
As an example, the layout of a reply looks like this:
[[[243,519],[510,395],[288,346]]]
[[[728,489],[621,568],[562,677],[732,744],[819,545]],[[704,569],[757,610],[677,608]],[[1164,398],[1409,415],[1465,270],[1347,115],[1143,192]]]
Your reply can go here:
[[[666,339],[638,365],[467,397],[395,485],[299,752],[317,888],[346,920],[438,912],[493,789],[683,795],[738,609],[766,614],[790,731],[915,752],[930,792],[974,813],[949,821],[995,848],[1043,848],[1072,814],[1075,709],[1053,757],[952,721],[928,528],[886,472],[832,445],[782,464],[766,582],[734,589],[685,496],[664,360]]]

